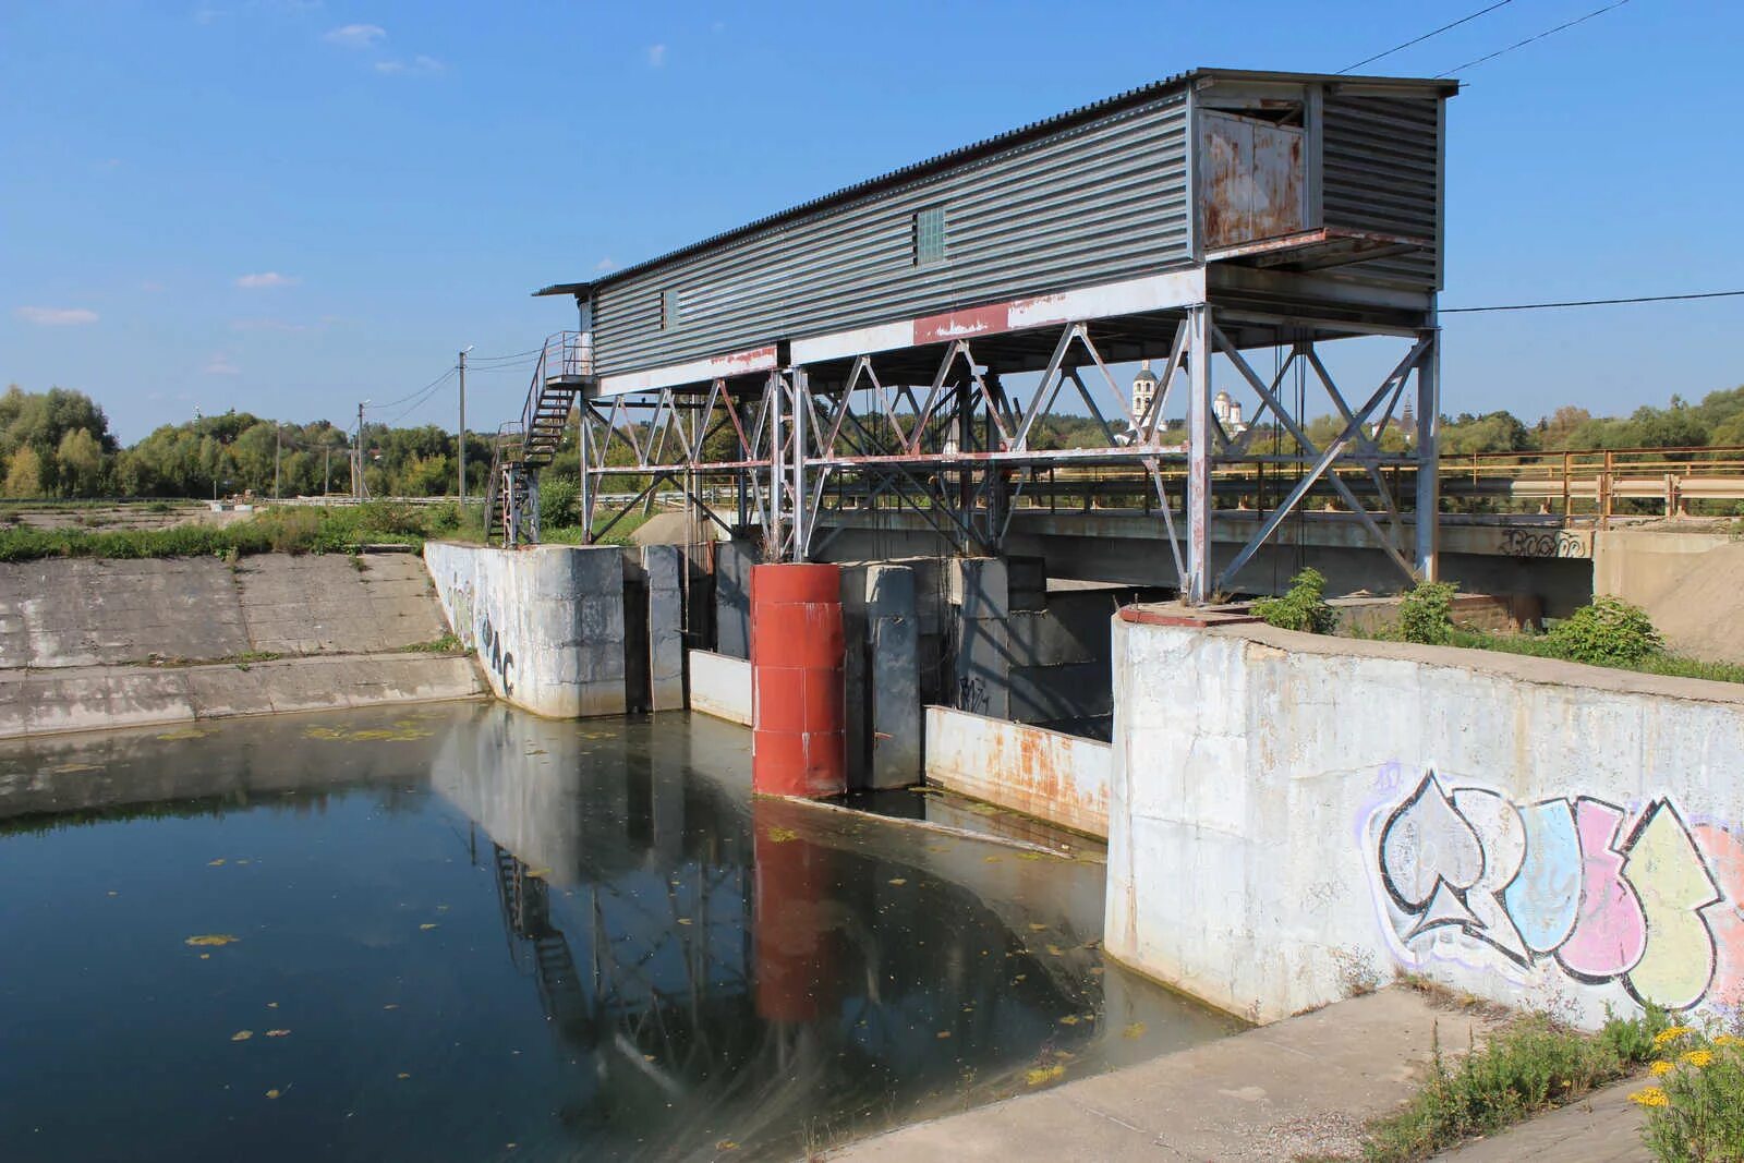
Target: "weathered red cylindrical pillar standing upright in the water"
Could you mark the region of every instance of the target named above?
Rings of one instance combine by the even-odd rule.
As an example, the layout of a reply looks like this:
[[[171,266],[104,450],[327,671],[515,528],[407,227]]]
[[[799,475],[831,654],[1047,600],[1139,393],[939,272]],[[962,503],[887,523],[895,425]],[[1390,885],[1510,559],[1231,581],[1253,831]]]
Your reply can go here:
[[[752,567],[752,790],[848,790],[842,579],[835,565]]]

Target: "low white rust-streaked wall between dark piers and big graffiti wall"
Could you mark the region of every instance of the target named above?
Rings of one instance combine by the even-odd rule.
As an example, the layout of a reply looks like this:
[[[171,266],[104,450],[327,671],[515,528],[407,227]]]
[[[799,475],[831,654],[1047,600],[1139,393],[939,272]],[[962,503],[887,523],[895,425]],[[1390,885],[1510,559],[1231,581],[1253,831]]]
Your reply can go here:
[[[926,779],[1074,832],[1107,835],[1107,743],[928,706]]]

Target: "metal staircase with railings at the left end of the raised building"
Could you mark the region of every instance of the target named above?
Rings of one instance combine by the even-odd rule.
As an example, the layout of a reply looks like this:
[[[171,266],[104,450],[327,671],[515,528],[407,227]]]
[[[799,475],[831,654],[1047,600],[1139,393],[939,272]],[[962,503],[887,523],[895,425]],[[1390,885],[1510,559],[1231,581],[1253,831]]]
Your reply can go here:
[[[539,544],[539,471],[556,459],[576,399],[593,382],[591,337],[558,331],[546,338],[527,389],[521,418],[497,429],[485,502],[492,544]]]

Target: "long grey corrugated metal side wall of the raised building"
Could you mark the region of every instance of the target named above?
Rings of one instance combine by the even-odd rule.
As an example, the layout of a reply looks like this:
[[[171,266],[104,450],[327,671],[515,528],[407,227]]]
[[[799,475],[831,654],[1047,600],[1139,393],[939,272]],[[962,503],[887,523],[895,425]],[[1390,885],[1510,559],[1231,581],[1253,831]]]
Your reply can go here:
[[[1186,96],[1165,94],[630,275],[598,291],[598,370],[1191,267],[1186,146]],[[940,204],[949,258],[916,267],[914,213]]]

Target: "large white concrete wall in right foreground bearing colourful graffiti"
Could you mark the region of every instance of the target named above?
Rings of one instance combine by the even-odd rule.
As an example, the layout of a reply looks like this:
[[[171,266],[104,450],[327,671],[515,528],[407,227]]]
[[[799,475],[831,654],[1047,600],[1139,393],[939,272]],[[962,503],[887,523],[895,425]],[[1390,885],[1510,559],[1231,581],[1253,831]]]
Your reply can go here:
[[[1134,617],[1109,954],[1259,1022],[1395,968],[1589,1025],[1744,1004],[1744,687]]]

